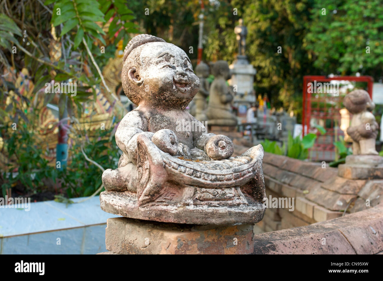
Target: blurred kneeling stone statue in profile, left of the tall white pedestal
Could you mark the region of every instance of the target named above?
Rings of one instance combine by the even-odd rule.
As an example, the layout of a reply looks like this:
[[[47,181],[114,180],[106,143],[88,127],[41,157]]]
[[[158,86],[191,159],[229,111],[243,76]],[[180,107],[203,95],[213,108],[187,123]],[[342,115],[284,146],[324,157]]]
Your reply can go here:
[[[231,101],[233,95],[231,89],[226,84],[230,78],[228,62],[218,60],[211,68],[214,80],[210,85],[209,105],[206,109],[206,116],[209,125],[237,125],[237,118],[232,113]]]

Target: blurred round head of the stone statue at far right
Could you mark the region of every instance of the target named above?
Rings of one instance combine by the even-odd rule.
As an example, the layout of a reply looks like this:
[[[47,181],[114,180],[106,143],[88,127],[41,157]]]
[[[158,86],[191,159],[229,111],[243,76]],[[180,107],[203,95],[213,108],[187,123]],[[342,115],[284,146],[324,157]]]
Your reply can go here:
[[[372,111],[375,108],[375,103],[372,102],[370,95],[365,90],[354,90],[348,93],[344,97],[343,105],[353,114],[365,110]]]

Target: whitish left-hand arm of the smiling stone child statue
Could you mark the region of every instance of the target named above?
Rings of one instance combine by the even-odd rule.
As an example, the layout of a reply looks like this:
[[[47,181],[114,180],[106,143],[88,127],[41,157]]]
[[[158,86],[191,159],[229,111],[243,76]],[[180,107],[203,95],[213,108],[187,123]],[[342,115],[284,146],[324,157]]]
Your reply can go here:
[[[132,162],[137,158],[137,136],[143,132],[150,139],[153,136],[152,132],[147,132],[146,118],[137,110],[126,114],[116,130],[116,144]]]

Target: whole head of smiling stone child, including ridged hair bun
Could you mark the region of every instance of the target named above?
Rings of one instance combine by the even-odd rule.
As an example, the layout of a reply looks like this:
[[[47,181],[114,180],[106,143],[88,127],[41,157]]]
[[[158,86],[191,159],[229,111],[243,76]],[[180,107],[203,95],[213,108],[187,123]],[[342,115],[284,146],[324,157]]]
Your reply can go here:
[[[185,109],[200,88],[187,54],[164,39],[140,34],[126,45],[121,82],[134,104]]]

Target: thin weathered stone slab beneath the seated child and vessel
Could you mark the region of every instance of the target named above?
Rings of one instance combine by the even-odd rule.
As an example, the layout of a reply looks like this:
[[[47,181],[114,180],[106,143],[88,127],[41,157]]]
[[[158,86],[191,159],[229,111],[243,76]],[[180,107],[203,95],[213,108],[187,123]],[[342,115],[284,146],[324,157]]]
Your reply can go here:
[[[202,189],[202,188],[201,188]],[[226,196],[236,196],[235,193],[241,193],[239,188],[234,188],[232,194],[229,190],[210,190],[203,192],[223,193]],[[201,195],[204,195],[201,193]],[[220,194],[212,194],[219,197]],[[243,195],[242,195],[243,196]],[[103,191],[100,194],[101,209],[105,212],[142,219],[147,221],[172,222],[178,224],[254,224],[262,220],[266,207],[262,203],[252,199],[238,196],[232,200],[232,206],[229,201],[210,201],[209,204],[190,205],[175,203],[161,204],[153,203],[145,206],[139,206],[137,194],[129,191]],[[243,200],[243,201],[241,201]],[[240,202],[241,201],[241,202]]]

